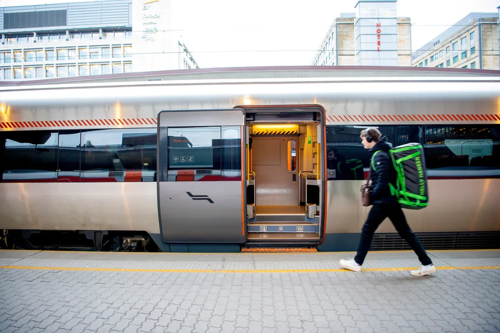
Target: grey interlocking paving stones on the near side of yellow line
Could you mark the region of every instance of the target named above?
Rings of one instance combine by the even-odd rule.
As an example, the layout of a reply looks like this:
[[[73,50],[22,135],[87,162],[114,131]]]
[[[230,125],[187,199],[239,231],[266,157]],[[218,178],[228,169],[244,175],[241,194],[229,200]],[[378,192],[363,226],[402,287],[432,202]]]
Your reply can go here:
[[[0,269],[0,332],[500,332],[500,270]]]

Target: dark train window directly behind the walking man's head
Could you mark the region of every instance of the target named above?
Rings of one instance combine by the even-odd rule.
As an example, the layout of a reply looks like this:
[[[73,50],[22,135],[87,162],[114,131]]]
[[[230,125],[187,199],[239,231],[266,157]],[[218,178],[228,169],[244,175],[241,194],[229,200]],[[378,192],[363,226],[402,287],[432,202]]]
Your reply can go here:
[[[364,179],[363,168],[368,168],[370,155],[359,137],[369,126],[327,126],[328,178],[334,180]],[[393,146],[422,142],[422,127],[418,125],[378,125],[383,136]],[[333,171],[333,174],[330,172]]]

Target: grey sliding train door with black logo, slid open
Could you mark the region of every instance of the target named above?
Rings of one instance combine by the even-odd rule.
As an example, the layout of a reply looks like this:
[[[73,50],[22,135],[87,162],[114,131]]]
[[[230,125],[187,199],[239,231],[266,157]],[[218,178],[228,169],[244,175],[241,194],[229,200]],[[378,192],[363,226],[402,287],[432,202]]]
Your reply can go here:
[[[158,114],[158,210],[166,243],[246,241],[245,112]]]

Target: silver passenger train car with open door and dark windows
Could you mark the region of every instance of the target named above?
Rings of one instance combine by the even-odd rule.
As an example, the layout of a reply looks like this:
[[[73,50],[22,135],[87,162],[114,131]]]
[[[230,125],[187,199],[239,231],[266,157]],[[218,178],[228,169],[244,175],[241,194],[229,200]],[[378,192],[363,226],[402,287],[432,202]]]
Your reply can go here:
[[[359,134],[424,146],[427,249],[500,244],[500,72],[293,67],[3,83],[0,245],[356,250]],[[392,224],[371,249],[406,249]]]

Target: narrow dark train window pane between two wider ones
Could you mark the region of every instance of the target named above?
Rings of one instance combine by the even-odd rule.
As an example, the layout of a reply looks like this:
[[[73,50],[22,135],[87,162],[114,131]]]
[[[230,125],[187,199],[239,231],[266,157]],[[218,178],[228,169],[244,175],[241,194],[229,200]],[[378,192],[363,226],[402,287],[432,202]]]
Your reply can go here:
[[[60,183],[80,182],[80,131],[59,132],[57,179]]]

